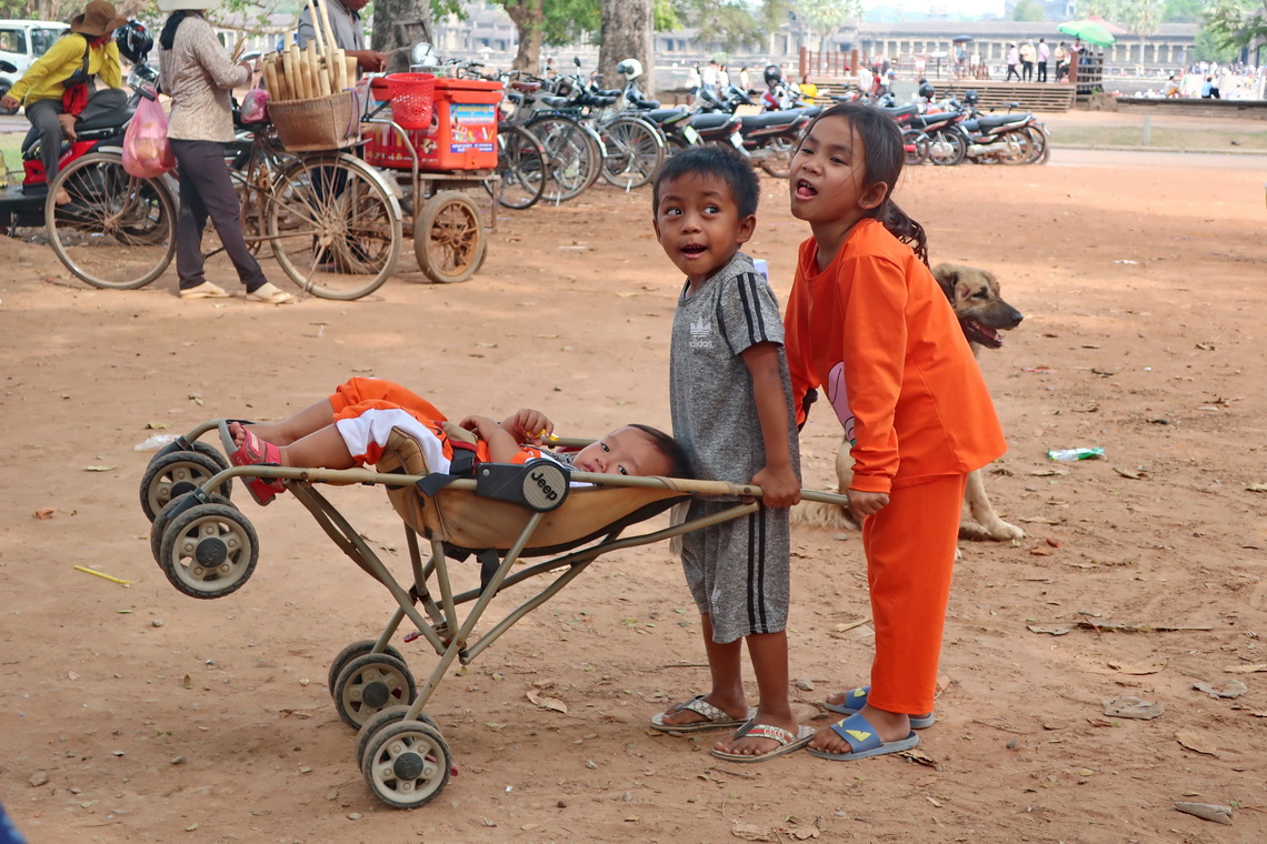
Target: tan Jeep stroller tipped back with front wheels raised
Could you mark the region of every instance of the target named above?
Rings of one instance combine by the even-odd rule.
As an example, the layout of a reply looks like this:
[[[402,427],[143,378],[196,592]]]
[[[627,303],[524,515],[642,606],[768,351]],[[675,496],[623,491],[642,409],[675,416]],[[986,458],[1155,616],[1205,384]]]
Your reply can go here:
[[[593,475],[554,461],[523,466],[479,463],[466,476],[430,472],[418,442],[393,430],[375,469],[281,466],[231,467],[236,450],[229,420],[210,420],[177,437],[151,459],[141,481],[141,506],[151,520],[150,547],[167,580],[185,595],[215,599],[239,590],[255,571],[260,543],[250,520],[229,500],[234,477],[280,478],[353,563],[392,593],[395,610],[378,639],[353,642],[331,663],[328,688],[340,717],[357,730],[356,763],[384,804],[414,809],[449,782],[452,754],[427,701],[457,661],[473,662],[519,619],[542,605],[594,559],[612,550],[660,542],[760,507],[750,485],[664,477]],[[199,442],[218,431],[224,453]],[[560,438],[565,448],[589,440]],[[404,521],[413,583],[405,587],[365,539],[318,491],[321,485],[384,486]],[[626,529],[692,497],[734,500],[707,519],[622,537]],[[806,490],[802,497],[846,504],[840,495]],[[430,544],[427,553],[422,542]],[[474,557],[478,588],[454,592],[450,561]],[[544,558],[512,573],[525,558]],[[540,574],[561,573],[502,620],[473,638],[499,592]],[[528,590],[531,591],[531,590]],[[465,617],[459,606],[473,604]],[[418,686],[392,645],[408,619],[404,640],[426,639],[440,661]]]

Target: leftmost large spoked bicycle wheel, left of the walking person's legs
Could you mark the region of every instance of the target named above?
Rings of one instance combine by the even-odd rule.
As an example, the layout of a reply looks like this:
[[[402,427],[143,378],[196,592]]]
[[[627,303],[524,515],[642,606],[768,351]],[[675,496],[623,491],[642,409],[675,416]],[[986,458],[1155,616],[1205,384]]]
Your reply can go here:
[[[68,202],[52,201],[66,191]],[[137,178],[115,153],[94,152],[48,187],[48,244],[67,270],[110,290],[144,287],[176,254],[176,201],[162,177]]]

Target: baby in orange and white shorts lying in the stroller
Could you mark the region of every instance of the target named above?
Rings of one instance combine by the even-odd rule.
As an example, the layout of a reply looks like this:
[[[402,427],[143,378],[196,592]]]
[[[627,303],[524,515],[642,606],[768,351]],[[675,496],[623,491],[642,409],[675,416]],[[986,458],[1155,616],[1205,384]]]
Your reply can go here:
[[[519,410],[502,423],[488,416],[468,416],[457,428],[471,431],[475,443],[464,442],[460,430],[435,405],[392,381],[351,378],[328,399],[318,401],[279,423],[229,424],[237,450],[234,466],[307,466],[346,469],[379,461],[393,429],[418,440],[433,472],[449,472],[474,449],[476,462],[526,463],[545,457],[582,472],[598,475],[650,475],[691,477],[689,459],[682,445],[650,425],[617,428],[576,453],[556,454],[537,448],[554,431],[538,410]],[[285,486],[276,478],[243,478],[251,496],[261,505],[272,501]]]

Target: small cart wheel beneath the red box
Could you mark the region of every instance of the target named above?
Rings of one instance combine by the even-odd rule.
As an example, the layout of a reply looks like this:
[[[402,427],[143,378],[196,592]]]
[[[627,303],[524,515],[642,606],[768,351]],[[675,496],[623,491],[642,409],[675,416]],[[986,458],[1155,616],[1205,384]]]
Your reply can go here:
[[[488,248],[479,209],[460,191],[440,191],[422,206],[413,227],[418,267],[438,283],[466,281]]]

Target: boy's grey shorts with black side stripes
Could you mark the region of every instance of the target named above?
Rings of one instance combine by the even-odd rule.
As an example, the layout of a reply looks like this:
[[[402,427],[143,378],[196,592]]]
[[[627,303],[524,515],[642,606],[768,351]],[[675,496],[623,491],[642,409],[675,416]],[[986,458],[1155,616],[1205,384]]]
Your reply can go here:
[[[692,501],[687,519],[735,506]],[[787,510],[758,510],[682,538],[682,568],[713,642],[778,633],[788,621],[791,533]]]

